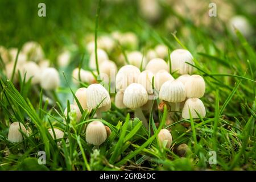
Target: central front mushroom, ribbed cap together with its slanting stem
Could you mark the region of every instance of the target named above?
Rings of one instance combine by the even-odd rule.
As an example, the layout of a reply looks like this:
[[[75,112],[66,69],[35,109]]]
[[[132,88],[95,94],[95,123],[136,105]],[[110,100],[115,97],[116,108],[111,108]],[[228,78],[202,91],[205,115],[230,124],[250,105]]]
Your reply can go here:
[[[141,84],[133,83],[125,89],[125,93],[123,94],[123,104],[130,109],[134,109],[135,117],[141,119],[146,129],[148,129],[148,122],[142,113],[141,106],[146,104],[147,101],[147,90],[144,89]]]

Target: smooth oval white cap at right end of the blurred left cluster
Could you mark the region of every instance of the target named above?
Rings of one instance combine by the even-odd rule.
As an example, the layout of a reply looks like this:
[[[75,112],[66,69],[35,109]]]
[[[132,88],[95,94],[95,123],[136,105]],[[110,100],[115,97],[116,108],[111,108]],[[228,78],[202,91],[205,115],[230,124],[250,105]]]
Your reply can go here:
[[[55,68],[46,68],[41,75],[40,84],[45,90],[55,90],[60,85],[59,72]]]

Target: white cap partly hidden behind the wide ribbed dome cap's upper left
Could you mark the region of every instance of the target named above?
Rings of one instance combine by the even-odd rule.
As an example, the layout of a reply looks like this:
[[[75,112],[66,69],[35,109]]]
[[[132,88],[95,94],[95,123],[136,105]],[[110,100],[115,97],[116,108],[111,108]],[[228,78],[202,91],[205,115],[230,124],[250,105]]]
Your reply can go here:
[[[169,72],[162,69],[159,72],[155,74],[154,78],[154,87],[159,92],[161,86],[164,84],[164,82],[174,80],[174,77],[171,76]]]

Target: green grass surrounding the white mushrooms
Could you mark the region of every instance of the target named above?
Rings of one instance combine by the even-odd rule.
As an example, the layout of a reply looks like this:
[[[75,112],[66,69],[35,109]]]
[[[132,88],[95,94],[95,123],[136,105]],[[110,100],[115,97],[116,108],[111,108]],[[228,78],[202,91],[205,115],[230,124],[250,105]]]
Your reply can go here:
[[[170,11],[171,7],[165,4],[162,5],[163,20],[152,24],[141,18],[134,1],[117,4],[102,1],[101,6],[94,1],[45,2],[47,17],[39,18],[39,1],[29,1],[26,6],[19,1],[1,1],[0,11],[3,13],[0,24],[5,26],[1,26],[0,34],[5,36],[1,36],[0,45],[21,47],[28,40],[36,40],[42,44],[52,65],[56,65],[57,53],[61,49],[73,44],[78,48],[72,52],[71,64],[64,70],[59,68],[61,86],[56,90],[55,97],[39,85],[31,85],[31,81],[24,82],[20,76],[18,84],[7,81],[3,72],[4,63],[0,59],[0,170],[256,169],[254,39],[244,38],[239,31],[234,38],[224,23],[221,31],[213,26],[196,26],[191,19],[180,14],[177,15],[180,24],[175,28],[176,33],[170,32],[164,28],[164,20],[168,14],[177,13]],[[245,7],[239,6],[239,2],[228,2],[237,13],[247,16],[255,30],[254,16],[247,13]],[[6,11],[5,7],[9,7],[10,11]],[[183,31],[185,28],[188,33]],[[97,39],[97,34],[109,34],[114,30],[134,31],[138,35],[140,49],[159,43],[166,44],[169,52],[176,48],[188,49],[195,58],[195,74],[203,76],[207,84],[205,96],[201,98],[207,109],[206,117],[181,119],[178,113],[174,123],[164,126],[167,109],[163,113],[158,111],[157,117],[151,109],[148,116],[151,133],[144,129],[139,119],[132,119],[133,112],[118,109],[112,103],[112,109],[106,111],[100,120],[112,130],[112,134],[98,148],[85,141],[83,128],[94,119],[93,114],[82,110],[81,105],[80,122],[74,124],[67,117],[65,125],[64,109],[73,101],[77,89],[72,84],[71,72],[78,66],[88,68],[85,36],[95,34]],[[118,48],[125,57],[130,51],[121,45]],[[115,53],[110,59],[117,59]],[[98,63],[96,65],[98,71]],[[177,77],[177,73],[173,75]],[[13,78],[14,75],[11,80]],[[15,121],[29,127],[31,135],[23,135],[23,142],[13,144],[7,140],[7,135],[10,123]],[[159,122],[159,127],[155,122]],[[57,146],[60,141],[56,142],[47,131],[53,126],[65,131],[60,146]],[[171,150],[160,148],[156,140],[162,127],[171,129]],[[67,139],[69,142],[66,142]],[[183,158],[176,153],[181,143],[187,143],[191,150]],[[46,152],[46,165],[38,164],[38,151]],[[210,151],[216,151],[216,165],[208,163]],[[10,154],[6,155],[7,152]]]

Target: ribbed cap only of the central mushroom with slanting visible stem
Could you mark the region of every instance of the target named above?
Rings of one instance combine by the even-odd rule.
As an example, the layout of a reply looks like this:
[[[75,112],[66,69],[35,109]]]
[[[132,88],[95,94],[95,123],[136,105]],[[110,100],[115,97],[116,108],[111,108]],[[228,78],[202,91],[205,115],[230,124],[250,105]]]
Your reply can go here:
[[[135,109],[143,106],[148,101],[147,90],[141,84],[131,84],[125,89],[123,94],[123,104],[130,108]]]

